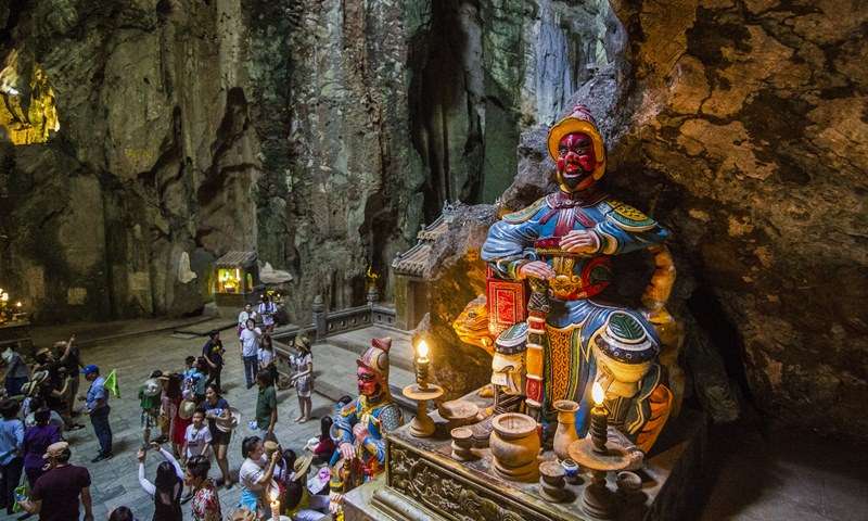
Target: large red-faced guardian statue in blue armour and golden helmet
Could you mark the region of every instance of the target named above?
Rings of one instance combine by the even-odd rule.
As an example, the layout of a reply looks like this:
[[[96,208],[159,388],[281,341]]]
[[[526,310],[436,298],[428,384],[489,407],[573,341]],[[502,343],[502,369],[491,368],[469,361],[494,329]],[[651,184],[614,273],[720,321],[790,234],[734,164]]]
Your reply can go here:
[[[661,336],[674,323],[664,309],[675,277],[663,246],[669,232],[599,190],[605,148],[585,106],[551,128],[548,151],[557,163],[558,191],[503,216],[482,249],[496,277],[526,280],[532,289],[526,404],[545,423],[556,401],[577,402],[576,428],[584,434],[591,386],[600,382],[610,424],[647,452],[673,407],[669,374],[660,363],[666,344]],[[640,249],[650,250],[656,264],[643,308],[604,302],[611,258]]]

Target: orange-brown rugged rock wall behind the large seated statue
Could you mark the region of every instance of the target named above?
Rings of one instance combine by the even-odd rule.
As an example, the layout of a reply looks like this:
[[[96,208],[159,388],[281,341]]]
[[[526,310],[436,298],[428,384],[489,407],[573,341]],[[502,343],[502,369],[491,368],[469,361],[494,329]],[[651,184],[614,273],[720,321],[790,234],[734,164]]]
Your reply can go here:
[[[613,182],[675,229],[689,307],[750,399],[864,437],[868,10],[616,3],[636,84]]]

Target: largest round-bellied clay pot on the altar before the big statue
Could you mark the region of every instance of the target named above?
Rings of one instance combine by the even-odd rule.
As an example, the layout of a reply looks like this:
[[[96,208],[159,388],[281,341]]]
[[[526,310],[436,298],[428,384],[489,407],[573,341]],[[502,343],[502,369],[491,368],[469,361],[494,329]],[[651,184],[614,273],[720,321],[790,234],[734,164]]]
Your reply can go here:
[[[495,470],[510,480],[536,480],[540,447],[536,421],[527,415],[506,412],[492,420],[492,428],[488,443]]]

